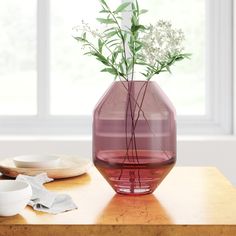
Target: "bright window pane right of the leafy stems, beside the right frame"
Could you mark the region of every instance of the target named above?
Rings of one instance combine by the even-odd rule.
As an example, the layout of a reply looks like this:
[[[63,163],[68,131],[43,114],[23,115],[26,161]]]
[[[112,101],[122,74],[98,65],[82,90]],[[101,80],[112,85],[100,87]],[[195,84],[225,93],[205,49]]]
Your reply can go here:
[[[173,67],[172,75],[161,74],[156,81],[168,93],[178,115],[205,115],[206,1],[146,0],[143,5],[150,9],[145,15],[147,23],[155,22],[157,18],[167,19],[175,27],[182,28],[185,50],[192,54],[190,61],[185,60]]]

